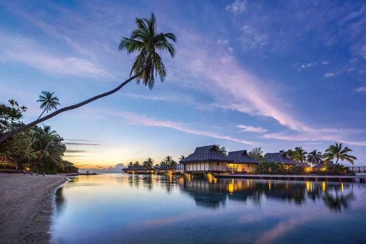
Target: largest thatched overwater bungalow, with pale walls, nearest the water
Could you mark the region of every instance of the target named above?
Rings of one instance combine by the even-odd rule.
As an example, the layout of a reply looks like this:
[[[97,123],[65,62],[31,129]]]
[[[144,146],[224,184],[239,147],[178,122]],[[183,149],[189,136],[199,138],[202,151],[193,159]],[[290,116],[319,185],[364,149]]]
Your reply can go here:
[[[215,145],[197,147],[194,153],[182,159],[177,169],[192,173],[217,173],[227,171],[226,164],[233,160],[216,151]]]

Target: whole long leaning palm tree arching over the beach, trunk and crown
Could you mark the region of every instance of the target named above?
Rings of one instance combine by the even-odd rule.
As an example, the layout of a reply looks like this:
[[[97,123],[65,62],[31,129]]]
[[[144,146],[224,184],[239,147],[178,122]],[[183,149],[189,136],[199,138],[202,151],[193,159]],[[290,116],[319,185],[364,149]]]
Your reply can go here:
[[[162,32],[158,32],[156,18],[153,13],[149,19],[136,18],[135,22],[137,28],[132,31],[132,34],[129,38],[122,38],[118,48],[120,51],[127,51],[128,54],[138,53],[132,64],[130,78],[128,78],[126,81],[123,81],[122,84],[113,90],[102,93],[83,102],[58,109],[39,120],[30,122],[16,130],[10,131],[9,133],[6,133],[0,137],[0,143],[4,142],[14,134],[26,130],[27,128],[30,128],[40,122],[48,120],[62,112],[81,107],[82,105],[85,105],[89,102],[93,102],[102,97],[111,95],[134,79],[136,79],[137,83],[142,82],[145,86],[148,86],[149,89],[154,87],[155,77],[158,76],[163,82],[166,78],[166,68],[160,54],[167,52],[173,58],[175,55],[173,43],[176,42],[177,39],[173,33],[164,34]]]

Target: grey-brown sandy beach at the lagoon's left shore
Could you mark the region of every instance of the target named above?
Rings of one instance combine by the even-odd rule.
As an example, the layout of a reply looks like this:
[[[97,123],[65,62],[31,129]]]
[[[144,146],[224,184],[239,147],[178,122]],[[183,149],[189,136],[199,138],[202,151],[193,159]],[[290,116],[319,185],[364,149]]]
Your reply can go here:
[[[49,243],[53,194],[66,178],[0,174],[0,242]]]

